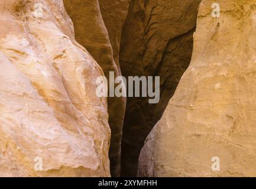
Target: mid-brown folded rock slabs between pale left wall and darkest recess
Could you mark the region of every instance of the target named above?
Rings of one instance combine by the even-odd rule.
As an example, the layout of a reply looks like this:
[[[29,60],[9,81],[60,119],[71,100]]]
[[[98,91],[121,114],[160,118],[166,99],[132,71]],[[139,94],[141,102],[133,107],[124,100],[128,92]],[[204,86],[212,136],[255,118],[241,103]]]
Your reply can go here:
[[[106,77],[109,77],[109,71],[114,71],[115,77],[121,76],[118,61],[119,41],[121,28],[128,12],[128,0],[100,2],[102,11],[98,0],[64,0],[66,10],[74,22],[76,40],[95,58]],[[109,29],[109,35],[101,12]],[[125,103],[123,97],[108,98],[109,125],[112,133],[109,151],[112,176],[119,176],[120,172]]]

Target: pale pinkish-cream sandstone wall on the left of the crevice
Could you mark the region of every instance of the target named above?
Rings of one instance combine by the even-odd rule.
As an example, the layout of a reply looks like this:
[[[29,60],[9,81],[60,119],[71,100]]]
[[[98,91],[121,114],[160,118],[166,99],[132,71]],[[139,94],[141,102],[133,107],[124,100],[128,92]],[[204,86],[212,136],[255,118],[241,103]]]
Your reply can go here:
[[[0,1],[0,23],[0,176],[108,177],[103,72],[62,0]]]

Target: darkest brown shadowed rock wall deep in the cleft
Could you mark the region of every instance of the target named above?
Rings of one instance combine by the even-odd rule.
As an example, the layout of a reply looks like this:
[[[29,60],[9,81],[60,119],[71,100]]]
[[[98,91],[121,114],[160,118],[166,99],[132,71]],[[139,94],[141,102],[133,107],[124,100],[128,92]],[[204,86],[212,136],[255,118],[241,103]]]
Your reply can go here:
[[[200,0],[132,0],[120,51],[122,74],[160,76],[160,102],[128,98],[122,138],[122,176],[137,174],[144,140],[161,118],[192,56]]]

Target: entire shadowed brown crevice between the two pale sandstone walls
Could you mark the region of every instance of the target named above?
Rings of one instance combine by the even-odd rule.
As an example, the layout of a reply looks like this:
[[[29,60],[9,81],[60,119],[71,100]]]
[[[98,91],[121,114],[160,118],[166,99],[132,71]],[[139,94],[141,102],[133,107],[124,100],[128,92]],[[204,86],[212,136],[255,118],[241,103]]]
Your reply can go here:
[[[114,177],[137,175],[144,140],[190,63],[200,1],[166,2],[64,0],[76,40],[95,58],[105,76],[109,71],[127,79],[160,76],[157,104],[149,104],[147,97],[128,97],[124,115],[125,99],[108,97],[109,158]]]

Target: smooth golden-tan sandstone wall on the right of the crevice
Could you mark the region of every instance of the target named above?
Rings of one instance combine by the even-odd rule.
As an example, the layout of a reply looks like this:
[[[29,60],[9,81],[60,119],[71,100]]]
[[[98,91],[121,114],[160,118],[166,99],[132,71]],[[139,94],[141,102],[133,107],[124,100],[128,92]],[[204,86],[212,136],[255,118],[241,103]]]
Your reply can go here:
[[[140,155],[140,176],[256,176],[256,1],[204,0],[192,62]],[[219,157],[220,171],[212,171]]]

